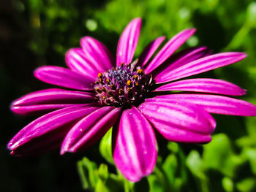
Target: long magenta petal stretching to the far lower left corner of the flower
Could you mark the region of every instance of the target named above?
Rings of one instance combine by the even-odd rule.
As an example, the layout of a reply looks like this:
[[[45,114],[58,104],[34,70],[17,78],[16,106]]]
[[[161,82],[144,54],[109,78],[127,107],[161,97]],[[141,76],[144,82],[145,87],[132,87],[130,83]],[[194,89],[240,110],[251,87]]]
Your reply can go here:
[[[99,107],[75,106],[50,112],[21,129],[18,134],[10,140],[7,146],[10,150],[16,150],[32,139],[49,134],[50,131],[56,131],[57,128],[61,128],[74,120],[79,120],[98,108]]]

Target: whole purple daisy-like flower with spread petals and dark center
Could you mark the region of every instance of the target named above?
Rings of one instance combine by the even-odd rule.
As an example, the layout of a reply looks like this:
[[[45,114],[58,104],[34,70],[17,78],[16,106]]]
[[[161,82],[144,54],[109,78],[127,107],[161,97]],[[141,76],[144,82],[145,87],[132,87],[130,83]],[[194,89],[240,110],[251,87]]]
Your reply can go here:
[[[39,80],[78,91],[52,88],[14,101],[13,112],[46,115],[11,139],[12,155],[34,155],[56,147],[61,147],[61,155],[85,150],[113,126],[116,166],[128,180],[138,181],[156,164],[154,131],[173,142],[206,143],[216,126],[210,113],[256,115],[255,105],[223,96],[244,95],[237,85],[206,78],[179,80],[241,61],[244,53],[211,55],[207,47],[192,47],[173,55],[195,33],[192,28],[176,34],[151,59],[165,37],[154,39],[132,61],[140,25],[140,18],[135,18],[124,29],[116,62],[105,45],[83,37],[81,47],[67,52],[69,69],[35,70]]]

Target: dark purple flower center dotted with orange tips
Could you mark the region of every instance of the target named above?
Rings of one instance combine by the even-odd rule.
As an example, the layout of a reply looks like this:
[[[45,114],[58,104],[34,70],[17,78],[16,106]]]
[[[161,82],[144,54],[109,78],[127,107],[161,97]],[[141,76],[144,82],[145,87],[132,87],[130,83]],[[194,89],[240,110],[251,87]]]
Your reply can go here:
[[[136,64],[137,61],[121,64],[98,74],[94,91],[100,104],[129,108],[144,101],[154,82],[151,75],[144,74],[143,69]]]

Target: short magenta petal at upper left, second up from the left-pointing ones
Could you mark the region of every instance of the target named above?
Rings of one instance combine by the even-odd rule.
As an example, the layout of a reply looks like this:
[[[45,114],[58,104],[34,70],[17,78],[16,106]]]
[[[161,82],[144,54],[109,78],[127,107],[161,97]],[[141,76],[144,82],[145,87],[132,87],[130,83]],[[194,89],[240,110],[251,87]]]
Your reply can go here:
[[[86,74],[89,77],[97,77],[99,72],[105,72],[105,69],[95,66],[95,63],[86,58],[81,48],[72,48],[66,53],[66,63],[74,72]]]

